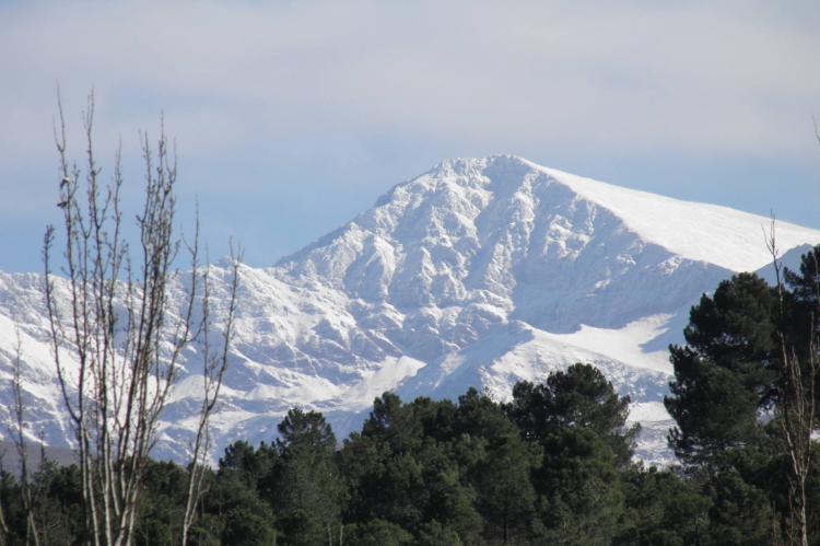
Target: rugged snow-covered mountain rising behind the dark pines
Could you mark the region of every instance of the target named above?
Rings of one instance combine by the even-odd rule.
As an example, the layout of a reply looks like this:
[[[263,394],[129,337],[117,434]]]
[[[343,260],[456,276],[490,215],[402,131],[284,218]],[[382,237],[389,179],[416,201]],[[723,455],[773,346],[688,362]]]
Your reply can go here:
[[[277,266],[241,268],[215,454],[236,439],[270,440],[293,406],[325,413],[341,437],[386,390],[456,397],[477,386],[505,398],[518,380],[584,361],[632,396],[641,455],[663,457],[666,346],[702,292],[766,264],[768,222],[514,156],[445,161]],[[777,236],[784,249],[820,242],[786,223]],[[211,275],[224,298],[227,268]],[[0,274],[0,400],[11,396],[19,325],[33,430],[63,445],[40,283]],[[185,456],[196,359],[186,355],[159,456]]]

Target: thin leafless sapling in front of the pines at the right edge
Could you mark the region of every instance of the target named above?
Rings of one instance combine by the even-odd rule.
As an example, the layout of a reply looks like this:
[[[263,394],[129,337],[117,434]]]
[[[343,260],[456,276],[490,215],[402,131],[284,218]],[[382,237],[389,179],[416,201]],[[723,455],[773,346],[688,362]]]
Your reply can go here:
[[[766,234],[766,247],[772,256],[774,265],[775,282],[777,289],[777,301],[780,305],[780,316],[784,316],[784,286],[782,279],[782,264],[780,262],[780,252],[777,249],[777,240],[775,236],[775,219],[772,214],[772,222]],[[815,260],[813,270],[820,271],[817,263],[817,254],[810,253]],[[820,302],[820,279],[815,275],[816,302]],[[806,479],[811,467],[811,433],[815,430],[816,418],[816,385],[818,367],[818,325],[817,315],[813,310],[809,314],[808,324],[808,347],[805,357],[798,356],[797,348],[789,342],[783,326],[777,332],[780,340],[780,360],[781,373],[783,376],[780,399],[777,404],[777,414],[780,417],[781,430],[786,445],[788,456],[788,506],[789,521],[787,533],[790,544],[808,546],[808,520],[806,518],[807,497]],[[782,321],[781,321],[782,323]]]

